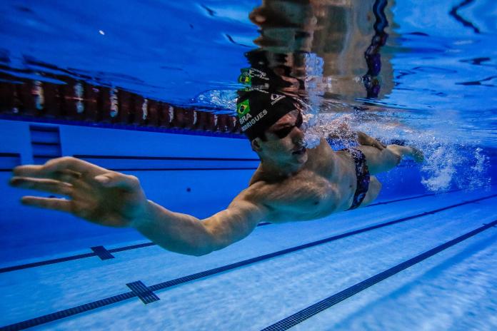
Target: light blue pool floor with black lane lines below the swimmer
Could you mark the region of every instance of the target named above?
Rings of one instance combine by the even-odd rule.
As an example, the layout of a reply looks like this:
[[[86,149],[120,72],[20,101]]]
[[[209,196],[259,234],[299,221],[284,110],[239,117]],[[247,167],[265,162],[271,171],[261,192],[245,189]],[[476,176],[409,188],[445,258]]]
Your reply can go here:
[[[146,240],[0,268],[0,330],[497,330],[497,188],[263,225],[202,257]]]

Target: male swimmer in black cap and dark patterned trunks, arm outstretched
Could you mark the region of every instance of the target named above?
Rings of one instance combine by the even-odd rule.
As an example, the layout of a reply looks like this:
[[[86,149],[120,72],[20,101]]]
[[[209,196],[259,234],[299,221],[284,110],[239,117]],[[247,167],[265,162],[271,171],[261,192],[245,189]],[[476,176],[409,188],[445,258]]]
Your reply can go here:
[[[24,196],[25,205],[132,227],[167,250],[205,255],[245,238],[263,221],[313,220],[366,205],[381,189],[376,173],[394,168],[403,156],[422,161],[415,148],[383,146],[363,133],[356,148],[335,152],[321,139],[316,148],[306,149],[302,113],[289,96],[251,91],[239,98],[237,113],[261,163],[249,187],[226,210],[204,220],[147,200],[132,175],[71,157],[18,166],[10,183],[68,197]]]

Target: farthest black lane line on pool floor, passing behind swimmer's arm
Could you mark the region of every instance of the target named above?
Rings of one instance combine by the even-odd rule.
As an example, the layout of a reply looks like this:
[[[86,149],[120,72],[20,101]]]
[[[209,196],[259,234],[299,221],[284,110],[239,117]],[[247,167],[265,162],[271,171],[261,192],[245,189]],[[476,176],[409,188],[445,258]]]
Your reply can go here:
[[[427,193],[427,194],[423,194],[423,195],[415,195],[415,196],[410,197],[410,198],[401,198],[401,199],[396,199],[396,200],[389,200],[389,201],[385,201],[383,203],[374,203],[372,205],[367,205],[366,207],[372,207],[374,205],[386,205],[388,203],[396,203],[398,201],[424,198],[426,196],[437,195],[437,194],[453,193],[453,192],[456,192],[456,191],[459,191],[459,189],[458,190],[449,190],[449,191],[444,192],[444,193]],[[272,223],[262,222],[262,223],[259,223],[257,226],[271,225],[271,224]],[[137,249],[137,248],[145,248],[145,247],[155,246],[155,245],[156,245],[156,243],[142,243],[142,244],[138,244],[138,245],[129,245],[129,246],[124,246],[124,247],[120,247],[120,248],[112,248],[110,250],[107,250],[107,252],[109,252],[109,254],[110,253],[118,253],[118,252],[124,252],[125,250],[134,250],[134,249]],[[104,246],[96,246],[96,247],[102,247],[103,248]],[[72,260],[78,260],[78,259],[81,259],[81,258],[91,258],[91,257],[94,257],[94,256],[99,256],[99,254],[96,253],[95,250],[94,250],[94,253],[84,253],[84,254],[78,254],[78,255],[71,255],[71,256],[64,257],[64,258],[56,258],[56,259],[44,260],[44,261],[39,261],[39,262],[34,262],[34,263],[26,263],[24,265],[12,265],[10,267],[0,268],[0,273],[9,273],[11,271],[23,270],[23,269],[35,268],[35,267],[41,267],[43,265],[52,265],[52,264],[55,264],[55,263],[62,263],[62,262],[67,262],[67,261],[72,261]],[[106,259],[102,259],[101,258],[101,260],[106,260]]]

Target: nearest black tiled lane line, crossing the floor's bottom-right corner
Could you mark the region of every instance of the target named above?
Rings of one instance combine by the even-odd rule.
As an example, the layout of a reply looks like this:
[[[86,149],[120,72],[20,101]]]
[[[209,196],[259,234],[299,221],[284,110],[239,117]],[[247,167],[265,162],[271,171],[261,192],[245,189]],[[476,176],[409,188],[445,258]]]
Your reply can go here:
[[[494,220],[493,222],[488,223],[487,225],[483,225],[481,228],[477,228],[476,230],[461,235],[456,239],[443,243],[442,245],[439,245],[436,248],[432,248],[431,250],[428,250],[425,253],[422,253],[414,258],[411,258],[410,260],[400,263],[395,267],[383,271],[382,273],[378,273],[377,275],[374,275],[373,277],[363,280],[362,282],[358,282],[356,285],[348,287],[341,292],[331,295],[330,297],[326,297],[326,299],[316,302],[315,304],[306,307],[303,310],[300,310],[293,315],[285,317],[283,318],[283,320],[279,320],[273,325],[264,327],[261,331],[288,330],[289,328],[298,325],[304,320],[313,317],[319,312],[322,312],[323,310],[326,310],[329,307],[336,305],[338,302],[342,302],[343,300],[346,300],[348,297],[356,295],[358,292],[366,290],[368,287],[371,287],[377,284],[378,282],[381,282],[382,280],[386,280],[386,278],[396,275],[397,273],[400,273],[402,270],[405,270],[413,265],[416,265],[417,263],[420,263],[421,261],[426,260],[427,258],[431,258],[431,256],[440,253],[442,250],[451,248],[453,245],[461,243],[461,241],[471,238],[473,237],[473,235],[477,235],[478,233],[481,233],[484,230],[493,227],[494,225],[497,225],[497,220]]]

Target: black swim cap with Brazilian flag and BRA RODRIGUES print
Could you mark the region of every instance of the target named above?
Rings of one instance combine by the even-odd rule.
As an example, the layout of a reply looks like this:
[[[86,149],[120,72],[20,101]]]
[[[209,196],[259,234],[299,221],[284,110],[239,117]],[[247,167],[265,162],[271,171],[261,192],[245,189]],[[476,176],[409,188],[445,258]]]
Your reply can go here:
[[[262,136],[278,119],[297,108],[298,103],[289,96],[252,89],[239,91],[236,115],[241,131],[253,140]]]

